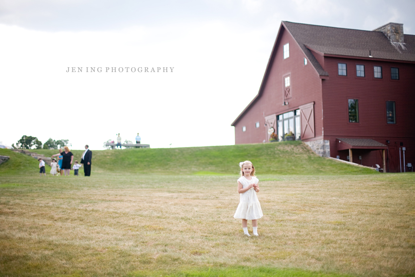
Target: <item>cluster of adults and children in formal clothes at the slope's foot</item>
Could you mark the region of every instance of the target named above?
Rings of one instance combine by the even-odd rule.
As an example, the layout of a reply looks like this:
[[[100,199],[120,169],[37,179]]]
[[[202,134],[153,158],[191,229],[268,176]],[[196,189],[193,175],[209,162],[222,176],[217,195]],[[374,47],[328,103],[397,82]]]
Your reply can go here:
[[[57,161],[53,157],[58,156]],[[39,173],[40,176],[42,176],[42,173],[46,176],[46,170],[45,170],[45,162],[39,158]],[[70,173],[70,166],[72,165],[72,169],[75,171],[74,175],[79,176],[78,170],[79,168],[84,165],[84,173],[85,176],[91,175],[91,163],[92,163],[92,151],[89,150],[89,146],[85,146],[85,151],[81,156],[81,164],[78,164],[78,161],[75,160],[73,162],[73,154],[69,150],[69,147],[65,146],[63,149],[59,149],[58,154],[52,155],[52,163],[51,163],[51,174],[53,176],[58,174],[58,171],[60,172],[60,175],[65,174],[65,176],[69,176]]]

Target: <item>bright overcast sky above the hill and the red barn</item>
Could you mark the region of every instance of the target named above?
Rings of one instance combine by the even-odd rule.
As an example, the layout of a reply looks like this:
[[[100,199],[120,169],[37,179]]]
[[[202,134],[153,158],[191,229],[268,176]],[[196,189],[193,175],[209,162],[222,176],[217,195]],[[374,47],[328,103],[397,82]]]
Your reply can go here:
[[[282,20],[415,34],[414,11],[414,0],[0,0],[0,141],[104,149],[139,132],[152,148],[232,145]]]

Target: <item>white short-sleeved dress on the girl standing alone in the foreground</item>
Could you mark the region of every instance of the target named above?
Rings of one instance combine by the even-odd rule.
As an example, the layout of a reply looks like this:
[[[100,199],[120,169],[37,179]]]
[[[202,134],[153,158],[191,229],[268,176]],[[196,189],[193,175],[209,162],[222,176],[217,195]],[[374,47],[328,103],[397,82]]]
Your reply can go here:
[[[251,180],[246,179],[244,176],[238,179],[242,184],[242,188],[251,184],[258,184],[258,178],[252,176]],[[240,193],[240,202],[236,208],[234,218],[253,220],[259,219],[263,216],[261,204],[258,201],[257,192],[254,188],[248,189],[244,193]]]

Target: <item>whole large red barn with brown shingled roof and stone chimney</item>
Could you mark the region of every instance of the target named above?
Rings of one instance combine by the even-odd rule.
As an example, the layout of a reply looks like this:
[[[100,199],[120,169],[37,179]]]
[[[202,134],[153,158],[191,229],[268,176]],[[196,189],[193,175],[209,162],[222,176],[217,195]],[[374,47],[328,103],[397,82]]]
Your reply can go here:
[[[235,143],[302,140],[321,156],[383,172],[415,163],[415,36],[282,21]],[[405,161],[404,161],[405,159]]]

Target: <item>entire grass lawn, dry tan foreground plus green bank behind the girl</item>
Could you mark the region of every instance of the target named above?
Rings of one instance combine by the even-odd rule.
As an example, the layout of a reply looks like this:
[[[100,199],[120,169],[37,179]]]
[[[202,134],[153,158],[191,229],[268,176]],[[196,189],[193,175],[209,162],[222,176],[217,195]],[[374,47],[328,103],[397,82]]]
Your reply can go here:
[[[265,145],[279,153],[266,159],[259,145],[239,148],[259,172],[259,237],[245,237],[233,219],[238,176],[230,173],[244,160],[236,150],[166,149],[180,163],[163,166],[151,153],[140,162],[149,170],[128,158],[162,149],[94,151],[87,178],[39,177],[35,159],[0,149],[12,157],[0,165],[0,276],[415,276],[414,174],[277,145]],[[205,155],[188,158],[198,151]],[[299,161],[303,171],[292,168]],[[193,166],[187,174],[183,164]],[[311,174],[311,164],[326,168]]]

